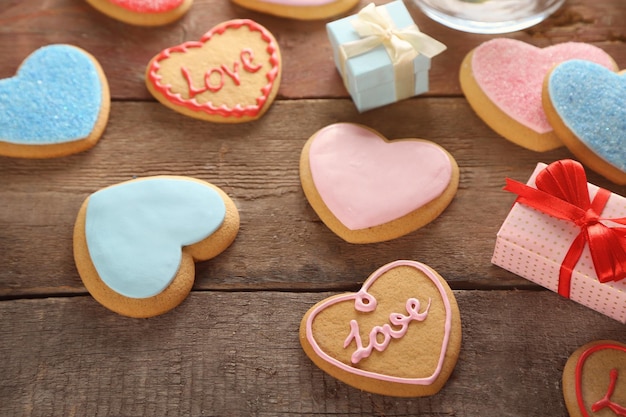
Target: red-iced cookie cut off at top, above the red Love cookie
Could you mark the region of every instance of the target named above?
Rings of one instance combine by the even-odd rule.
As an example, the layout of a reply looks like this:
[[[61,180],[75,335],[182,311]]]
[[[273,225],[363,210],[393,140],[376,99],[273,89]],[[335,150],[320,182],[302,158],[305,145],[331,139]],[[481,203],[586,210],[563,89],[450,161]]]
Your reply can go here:
[[[124,23],[160,26],[180,19],[193,0],[87,0],[87,3]]]

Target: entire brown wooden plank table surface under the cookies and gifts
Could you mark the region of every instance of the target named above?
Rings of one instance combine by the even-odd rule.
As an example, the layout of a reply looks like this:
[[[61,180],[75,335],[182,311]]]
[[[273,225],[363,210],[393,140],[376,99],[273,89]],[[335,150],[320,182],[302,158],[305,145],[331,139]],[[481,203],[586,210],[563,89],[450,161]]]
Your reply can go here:
[[[448,29],[407,6],[422,31],[448,45],[433,60],[431,90],[359,114],[334,68],[327,21],[195,0],[180,21],[142,28],[79,0],[0,1],[0,78],[13,76],[38,47],[69,43],[100,61],[112,94],[95,148],[49,160],[0,157],[0,415],[567,416],[561,374],[568,356],[595,339],[626,342],[626,327],[490,260],[515,198],[502,191],[505,177],[525,181],[537,162],[571,154],[528,151],[491,131],[458,82],[464,55],[491,36]],[[232,18],[254,19],[278,39],[284,73],[268,113],[221,125],[157,103],[144,84],[149,59]],[[540,47],[589,42],[626,68],[625,21],[623,0],[567,0],[544,23],[503,36]],[[444,146],[461,170],[452,204],[431,224],[390,242],[352,245],[335,236],[308,205],[298,173],[305,141],[335,122]],[[85,290],[72,228],[90,193],[158,174],[218,185],[235,201],[241,228],[226,252],[197,264],[193,291],[180,306],[129,319]],[[592,172],[588,178],[626,195],[624,186]],[[459,361],[432,397],[351,388],[314,366],[298,341],[309,307],[357,290],[397,259],[436,269],[461,310]]]

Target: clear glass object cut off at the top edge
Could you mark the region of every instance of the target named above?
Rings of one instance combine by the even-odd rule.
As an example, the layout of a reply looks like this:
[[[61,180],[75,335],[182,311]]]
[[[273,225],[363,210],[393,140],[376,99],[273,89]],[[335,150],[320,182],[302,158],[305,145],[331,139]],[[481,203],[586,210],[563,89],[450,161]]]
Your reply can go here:
[[[565,0],[414,0],[431,19],[473,33],[507,33],[536,25]]]

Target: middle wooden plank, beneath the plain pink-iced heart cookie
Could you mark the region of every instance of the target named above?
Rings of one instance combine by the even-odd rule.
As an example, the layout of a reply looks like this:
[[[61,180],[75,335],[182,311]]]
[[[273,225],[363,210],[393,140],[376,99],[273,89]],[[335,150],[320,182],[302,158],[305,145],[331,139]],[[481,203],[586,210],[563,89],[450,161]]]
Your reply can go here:
[[[461,167],[455,200],[433,223],[403,238],[371,245],[339,239],[308,205],[298,174],[306,139],[338,121],[446,147]],[[537,154],[509,143],[459,98],[417,98],[367,116],[349,100],[279,101],[246,125],[196,121],[156,103],[116,102],[104,137],[88,152],[0,158],[0,296],[84,292],[71,251],[80,204],[102,187],[159,174],[213,182],[240,210],[239,236],[218,258],[198,265],[197,288],[353,287],[401,258],[431,265],[457,288],[524,287],[531,284],[490,264],[495,234],[514,200],[501,191],[504,178],[524,181],[537,162],[569,156],[564,148]],[[626,187],[589,177],[626,194]]]

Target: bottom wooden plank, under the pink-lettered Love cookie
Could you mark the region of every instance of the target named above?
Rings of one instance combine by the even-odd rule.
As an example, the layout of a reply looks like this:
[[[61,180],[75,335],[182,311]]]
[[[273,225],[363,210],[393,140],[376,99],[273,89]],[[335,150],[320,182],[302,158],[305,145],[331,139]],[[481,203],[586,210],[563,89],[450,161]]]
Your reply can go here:
[[[431,398],[360,392],[300,348],[301,316],[329,293],[194,292],[146,320],[90,297],[0,302],[3,416],[566,416],[567,357],[623,325],[549,292],[455,291],[459,362]]]

